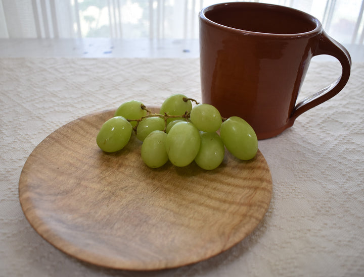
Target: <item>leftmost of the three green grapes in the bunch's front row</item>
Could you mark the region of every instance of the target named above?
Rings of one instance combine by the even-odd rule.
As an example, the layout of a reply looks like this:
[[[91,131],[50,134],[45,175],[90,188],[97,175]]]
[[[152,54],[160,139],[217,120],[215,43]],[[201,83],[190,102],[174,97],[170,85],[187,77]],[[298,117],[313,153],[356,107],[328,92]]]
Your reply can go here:
[[[167,134],[163,131],[153,131],[144,140],[141,149],[142,159],[150,168],[159,168],[168,161],[165,147]]]

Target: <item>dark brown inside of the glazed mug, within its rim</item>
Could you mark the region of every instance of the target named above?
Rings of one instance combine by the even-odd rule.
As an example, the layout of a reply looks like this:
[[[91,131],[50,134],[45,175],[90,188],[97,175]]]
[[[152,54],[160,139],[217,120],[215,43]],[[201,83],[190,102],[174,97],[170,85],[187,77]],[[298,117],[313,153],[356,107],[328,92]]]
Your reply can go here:
[[[307,33],[319,26],[319,21],[306,13],[260,3],[213,5],[203,10],[202,15],[219,25],[267,34]]]

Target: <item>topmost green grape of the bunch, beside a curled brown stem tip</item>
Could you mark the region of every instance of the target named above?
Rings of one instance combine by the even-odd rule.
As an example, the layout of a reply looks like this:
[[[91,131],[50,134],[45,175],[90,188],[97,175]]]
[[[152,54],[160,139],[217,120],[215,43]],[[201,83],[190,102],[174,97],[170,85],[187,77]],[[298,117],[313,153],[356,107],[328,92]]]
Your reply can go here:
[[[187,102],[185,102],[183,98],[188,98],[188,97],[183,94],[173,94],[169,96],[162,103],[159,113],[161,115],[164,115],[164,113],[166,113],[170,116],[179,116],[179,115],[184,115],[186,112],[191,112],[192,109],[191,101],[188,100]],[[167,119],[167,122],[169,123],[176,119],[181,119],[181,118],[170,118]]]

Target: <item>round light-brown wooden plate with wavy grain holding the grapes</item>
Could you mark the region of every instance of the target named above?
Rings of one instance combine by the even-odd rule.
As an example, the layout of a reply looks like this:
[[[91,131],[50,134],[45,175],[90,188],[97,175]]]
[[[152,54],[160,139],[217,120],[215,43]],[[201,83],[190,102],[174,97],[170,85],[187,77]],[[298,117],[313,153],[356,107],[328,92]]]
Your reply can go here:
[[[30,154],[19,197],[35,231],[80,260],[117,269],[178,267],[244,239],[268,209],[272,181],[258,150],[250,161],[226,151],[219,168],[167,162],[150,169],[141,142],[106,154],[96,144],[113,110],[72,121]]]

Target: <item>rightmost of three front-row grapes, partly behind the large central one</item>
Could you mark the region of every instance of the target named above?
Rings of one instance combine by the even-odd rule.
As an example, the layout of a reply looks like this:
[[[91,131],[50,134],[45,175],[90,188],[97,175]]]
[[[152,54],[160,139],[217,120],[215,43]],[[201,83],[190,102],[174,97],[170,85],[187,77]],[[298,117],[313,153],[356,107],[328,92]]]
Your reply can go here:
[[[200,131],[201,146],[195,157],[197,165],[205,170],[213,170],[222,162],[225,154],[225,147],[220,136],[216,133]]]

